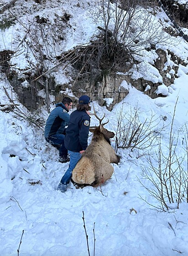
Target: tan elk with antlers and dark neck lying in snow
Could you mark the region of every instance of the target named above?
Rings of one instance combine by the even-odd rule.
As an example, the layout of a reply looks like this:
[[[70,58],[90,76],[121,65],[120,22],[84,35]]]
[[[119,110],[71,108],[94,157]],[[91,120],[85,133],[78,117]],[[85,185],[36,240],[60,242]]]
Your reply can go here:
[[[99,118],[94,110],[93,114],[99,120],[99,126],[90,127],[93,138],[77,165],[73,169],[72,180],[80,185],[100,185],[110,179],[114,168],[110,163],[119,163],[120,157],[115,154],[110,145],[110,138],[115,136],[114,132],[108,131],[101,124],[103,118]]]

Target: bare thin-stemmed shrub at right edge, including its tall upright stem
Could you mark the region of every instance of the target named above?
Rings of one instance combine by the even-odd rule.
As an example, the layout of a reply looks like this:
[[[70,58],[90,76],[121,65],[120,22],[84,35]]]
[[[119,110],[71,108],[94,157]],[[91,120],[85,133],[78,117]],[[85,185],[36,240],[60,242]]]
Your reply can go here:
[[[155,152],[155,155],[146,156],[147,165],[141,166],[141,176],[143,179],[149,180],[150,185],[145,185],[145,182],[138,179],[149,194],[159,202],[159,205],[154,207],[162,211],[174,207],[179,208],[181,202],[188,202],[188,144],[186,144],[185,149],[186,159],[186,154],[183,156],[178,155],[180,131],[175,133],[172,129],[174,115],[168,145],[162,148],[161,140],[159,140],[158,151]],[[188,132],[186,136],[187,141]],[[141,197],[141,199],[143,198]],[[143,200],[147,202],[146,199]],[[175,203],[175,206],[170,205],[172,203]]]

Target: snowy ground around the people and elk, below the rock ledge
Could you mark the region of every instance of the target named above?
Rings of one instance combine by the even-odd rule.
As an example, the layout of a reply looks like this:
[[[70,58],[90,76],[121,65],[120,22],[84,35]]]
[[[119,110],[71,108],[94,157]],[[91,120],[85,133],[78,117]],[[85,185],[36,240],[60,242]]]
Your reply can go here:
[[[137,105],[143,119],[152,110],[152,114],[167,116],[166,122],[170,122],[179,97],[174,121],[177,132],[183,122],[188,121],[187,85],[188,75],[184,74],[176,80],[172,94],[155,100],[130,88],[124,103],[117,104],[112,112],[99,107],[96,102],[94,104],[99,116],[105,111],[113,120],[112,126],[122,104],[125,112]],[[3,86],[10,93],[8,82],[1,82],[1,103],[6,100]],[[96,123],[94,119],[92,117],[93,124]],[[114,165],[114,175],[101,187],[76,189],[71,184],[63,194],[56,191],[56,187],[68,163],[57,162],[58,154],[44,141],[42,131],[32,128],[11,112],[2,111],[0,127],[1,255],[16,254],[23,230],[20,255],[87,255],[83,212],[90,255],[94,251],[94,235],[95,255],[176,256],[178,251],[188,254],[188,204],[181,203],[179,209],[158,212],[138,196],[157,205],[155,198],[148,195],[136,178],[141,178],[140,166],[147,165],[144,155],[137,158],[142,151],[121,150],[120,164]],[[113,141],[112,145],[115,146]],[[178,152],[184,154],[181,147],[179,143]],[[162,148],[166,148],[165,140]],[[39,180],[38,184],[31,185]],[[124,192],[128,193],[125,195]],[[131,208],[137,213],[131,212]]]

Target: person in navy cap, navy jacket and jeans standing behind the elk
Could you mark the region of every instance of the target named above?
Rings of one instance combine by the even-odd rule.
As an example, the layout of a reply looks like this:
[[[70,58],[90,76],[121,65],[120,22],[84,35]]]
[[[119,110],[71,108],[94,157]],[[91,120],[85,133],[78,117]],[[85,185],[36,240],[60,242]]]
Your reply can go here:
[[[73,169],[81,158],[81,154],[88,147],[90,125],[89,110],[91,110],[89,103],[90,98],[87,95],[81,96],[79,98],[77,110],[73,111],[70,115],[65,135],[65,147],[68,149],[68,153],[70,154],[70,163],[68,170],[65,172],[57,186],[57,190],[60,190],[61,192],[65,192],[67,190]]]

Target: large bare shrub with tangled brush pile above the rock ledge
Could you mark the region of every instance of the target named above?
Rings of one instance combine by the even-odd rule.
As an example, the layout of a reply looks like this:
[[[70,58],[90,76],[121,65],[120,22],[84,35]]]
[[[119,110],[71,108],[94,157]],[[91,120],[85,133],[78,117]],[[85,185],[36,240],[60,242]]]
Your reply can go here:
[[[73,65],[78,70],[76,80],[89,73],[95,82],[119,68],[128,71],[145,47],[168,39],[147,3],[99,0],[89,4],[88,16],[96,23],[94,36],[88,43],[63,52],[57,65],[62,64],[63,69]]]

